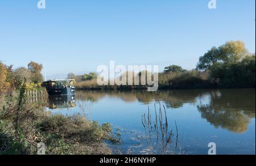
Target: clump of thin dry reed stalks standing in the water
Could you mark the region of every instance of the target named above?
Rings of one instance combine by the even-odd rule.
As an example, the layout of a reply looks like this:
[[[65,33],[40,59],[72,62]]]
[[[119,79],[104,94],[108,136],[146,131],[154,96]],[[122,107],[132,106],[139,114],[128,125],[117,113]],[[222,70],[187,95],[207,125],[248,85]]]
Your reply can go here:
[[[142,125],[145,131],[145,137],[150,154],[177,154],[177,147],[179,146],[179,134],[177,130],[177,123],[175,121],[176,133],[168,129],[168,118],[166,107],[159,104],[159,110],[154,104],[154,120],[152,118],[150,108],[148,106],[147,114],[142,114]],[[164,114],[163,114],[164,113]],[[180,154],[180,152],[179,152]]]

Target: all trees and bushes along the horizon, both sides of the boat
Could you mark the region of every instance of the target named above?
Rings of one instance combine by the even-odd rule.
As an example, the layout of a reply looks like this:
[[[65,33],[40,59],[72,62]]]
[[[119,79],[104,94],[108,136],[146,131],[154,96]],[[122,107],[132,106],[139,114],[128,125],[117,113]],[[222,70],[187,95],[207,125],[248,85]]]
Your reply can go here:
[[[30,62],[27,68],[6,66],[0,62],[0,92],[19,87],[24,78],[27,88],[40,87],[43,80],[43,65]],[[147,76],[151,73],[147,72]],[[159,74],[159,88],[255,88],[255,53],[247,51],[245,43],[228,41],[221,46],[213,46],[203,56],[195,69],[185,70],[181,66],[170,65]],[[152,74],[151,74],[152,75]],[[83,89],[133,89],[146,86],[98,86],[97,73],[76,75],[69,73],[68,79],[75,79],[77,88]],[[140,73],[134,76],[140,76]]]

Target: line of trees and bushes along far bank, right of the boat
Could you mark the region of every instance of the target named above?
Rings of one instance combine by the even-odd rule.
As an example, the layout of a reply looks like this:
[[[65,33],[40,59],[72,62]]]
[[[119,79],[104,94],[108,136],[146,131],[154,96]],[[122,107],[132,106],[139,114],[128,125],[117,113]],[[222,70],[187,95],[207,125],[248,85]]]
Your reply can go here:
[[[146,72],[147,75],[151,74]],[[245,43],[228,41],[214,46],[199,58],[195,69],[185,70],[170,65],[159,75],[159,88],[249,88],[255,87],[255,53],[249,53]],[[134,74],[134,77],[140,73]],[[136,89],[143,86],[98,86],[97,74],[71,76],[82,89]],[[146,86],[144,86],[146,88]]]

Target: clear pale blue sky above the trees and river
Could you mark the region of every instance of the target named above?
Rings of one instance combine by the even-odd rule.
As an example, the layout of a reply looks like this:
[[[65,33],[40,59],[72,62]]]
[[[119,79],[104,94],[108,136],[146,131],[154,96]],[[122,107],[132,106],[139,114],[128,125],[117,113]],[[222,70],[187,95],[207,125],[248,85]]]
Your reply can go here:
[[[47,75],[119,65],[192,69],[212,46],[242,40],[255,52],[255,0],[0,1],[0,61],[42,63]]]

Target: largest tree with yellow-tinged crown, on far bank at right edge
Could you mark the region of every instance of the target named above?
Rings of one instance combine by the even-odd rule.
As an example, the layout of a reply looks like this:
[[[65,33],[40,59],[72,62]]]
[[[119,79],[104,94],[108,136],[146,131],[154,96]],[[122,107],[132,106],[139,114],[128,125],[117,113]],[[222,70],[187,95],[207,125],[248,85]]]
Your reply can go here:
[[[239,40],[208,50],[197,69],[209,71],[212,81],[223,87],[255,87],[255,55]]]

